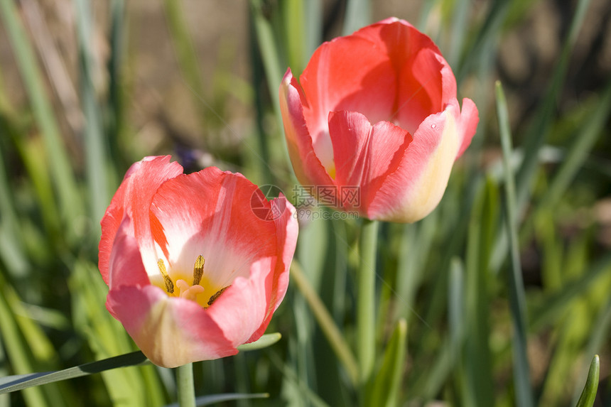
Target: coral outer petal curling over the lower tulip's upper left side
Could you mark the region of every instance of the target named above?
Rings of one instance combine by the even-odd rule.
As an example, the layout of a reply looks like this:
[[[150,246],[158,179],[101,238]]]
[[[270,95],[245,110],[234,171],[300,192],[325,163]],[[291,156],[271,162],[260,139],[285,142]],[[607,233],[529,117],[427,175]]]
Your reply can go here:
[[[144,246],[151,249],[151,229],[148,226],[148,207],[159,185],[170,178],[183,173],[178,163],[171,163],[170,156],[146,157],[131,165],[119,189],[102,217],[102,238],[99,241],[99,271],[104,282],[109,280],[109,259],[114,244],[114,237],[124,215],[131,217],[134,224],[139,224],[136,234],[146,241]],[[156,265],[155,265],[156,267]]]

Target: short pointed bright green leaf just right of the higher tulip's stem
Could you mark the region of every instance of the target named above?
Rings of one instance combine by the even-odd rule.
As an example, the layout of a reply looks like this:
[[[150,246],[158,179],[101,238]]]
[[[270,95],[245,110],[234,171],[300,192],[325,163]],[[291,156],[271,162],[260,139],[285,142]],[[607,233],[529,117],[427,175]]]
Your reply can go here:
[[[369,393],[367,406],[396,406],[405,362],[407,322],[401,318],[389,340],[384,361]]]

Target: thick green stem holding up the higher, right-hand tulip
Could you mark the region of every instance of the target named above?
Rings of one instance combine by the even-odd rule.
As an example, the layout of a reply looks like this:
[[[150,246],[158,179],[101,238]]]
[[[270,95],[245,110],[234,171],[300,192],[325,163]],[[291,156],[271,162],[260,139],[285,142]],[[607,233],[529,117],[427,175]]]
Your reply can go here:
[[[378,222],[363,219],[359,242],[357,298],[357,358],[361,383],[372,375],[375,361],[376,246]]]

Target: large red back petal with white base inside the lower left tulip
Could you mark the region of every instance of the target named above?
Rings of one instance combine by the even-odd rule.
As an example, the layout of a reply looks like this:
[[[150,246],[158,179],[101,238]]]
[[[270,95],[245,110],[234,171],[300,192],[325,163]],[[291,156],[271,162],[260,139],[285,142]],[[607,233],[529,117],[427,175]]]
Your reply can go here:
[[[244,176],[214,167],[161,186],[151,214],[163,225],[163,241],[156,243],[167,252],[168,268],[192,275],[195,259],[202,255],[210,297],[237,276],[248,277],[256,259],[275,256],[274,222],[260,219],[250,207],[256,191]]]

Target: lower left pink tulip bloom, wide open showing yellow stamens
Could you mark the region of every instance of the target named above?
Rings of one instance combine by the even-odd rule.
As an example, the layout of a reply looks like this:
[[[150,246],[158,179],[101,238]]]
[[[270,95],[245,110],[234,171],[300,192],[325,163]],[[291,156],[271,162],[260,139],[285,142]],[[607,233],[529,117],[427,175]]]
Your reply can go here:
[[[277,216],[256,216],[253,196]],[[286,293],[293,214],[240,174],[185,175],[169,156],[135,163],[102,219],[109,312],[163,367],[236,354],[263,335]]]

